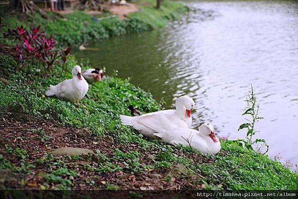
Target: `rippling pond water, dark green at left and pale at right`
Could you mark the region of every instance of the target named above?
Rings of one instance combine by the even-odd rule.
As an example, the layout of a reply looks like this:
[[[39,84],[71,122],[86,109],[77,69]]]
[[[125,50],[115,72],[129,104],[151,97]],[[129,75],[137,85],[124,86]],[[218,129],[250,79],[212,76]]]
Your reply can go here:
[[[166,108],[187,94],[196,102],[193,126],[209,121],[229,139],[246,134],[237,128],[253,85],[264,117],[255,137],[267,141],[270,157],[280,153],[297,164],[298,2],[184,2],[192,7],[184,19],[94,42],[77,57],[105,66],[108,75],[118,70]]]

